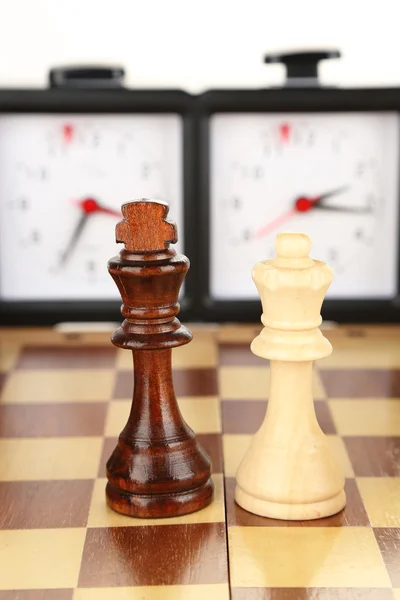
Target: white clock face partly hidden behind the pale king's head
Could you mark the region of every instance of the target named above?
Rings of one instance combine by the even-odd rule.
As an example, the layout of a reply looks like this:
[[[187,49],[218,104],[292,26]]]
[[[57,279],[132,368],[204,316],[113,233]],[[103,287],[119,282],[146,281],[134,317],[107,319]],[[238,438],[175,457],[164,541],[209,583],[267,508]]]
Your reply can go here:
[[[397,292],[397,113],[216,114],[211,119],[210,293],[255,299],[251,270],[276,234],[307,233],[330,298]]]

